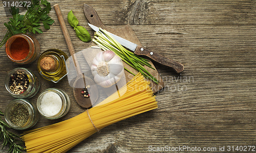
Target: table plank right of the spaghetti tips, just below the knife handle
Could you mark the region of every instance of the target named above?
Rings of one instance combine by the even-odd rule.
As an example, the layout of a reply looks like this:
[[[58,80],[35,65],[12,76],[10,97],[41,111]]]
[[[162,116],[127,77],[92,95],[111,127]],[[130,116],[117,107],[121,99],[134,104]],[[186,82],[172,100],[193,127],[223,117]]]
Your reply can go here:
[[[159,70],[165,88],[157,94],[158,111],[255,111],[253,70],[186,69],[181,75]]]

